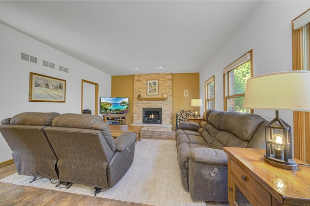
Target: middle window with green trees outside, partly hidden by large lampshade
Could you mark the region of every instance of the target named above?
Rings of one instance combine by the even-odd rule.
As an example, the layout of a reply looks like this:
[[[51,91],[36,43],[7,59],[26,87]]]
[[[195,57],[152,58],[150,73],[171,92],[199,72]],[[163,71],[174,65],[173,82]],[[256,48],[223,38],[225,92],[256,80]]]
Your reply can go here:
[[[253,113],[243,109],[247,80],[253,75],[252,50],[223,69],[224,75],[224,110]]]

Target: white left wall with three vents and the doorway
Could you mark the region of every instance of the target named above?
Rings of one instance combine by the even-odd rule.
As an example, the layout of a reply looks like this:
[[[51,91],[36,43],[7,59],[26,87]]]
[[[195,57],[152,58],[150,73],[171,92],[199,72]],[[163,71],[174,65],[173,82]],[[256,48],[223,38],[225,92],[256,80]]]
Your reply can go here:
[[[39,57],[40,64],[19,60],[19,51]],[[42,66],[42,59],[69,68],[69,73]],[[65,103],[29,102],[30,72],[65,79]],[[25,111],[80,113],[81,79],[98,83],[99,96],[111,95],[110,75],[0,24],[0,120]],[[0,134],[0,162],[9,159],[12,151]]]

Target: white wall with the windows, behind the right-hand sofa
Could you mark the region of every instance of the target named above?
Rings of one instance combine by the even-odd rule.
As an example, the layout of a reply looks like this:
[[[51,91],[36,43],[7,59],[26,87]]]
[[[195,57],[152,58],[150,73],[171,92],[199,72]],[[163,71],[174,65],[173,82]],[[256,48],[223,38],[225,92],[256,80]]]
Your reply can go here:
[[[203,82],[215,75],[216,110],[223,111],[223,68],[253,49],[254,76],[292,70],[292,20],[310,8],[310,1],[261,1],[240,27],[224,40],[211,62],[200,73],[200,97]],[[204,108],[204,106],[203,106]],[[267,120],[275,111],[255,110]],[[293,126],[293,112],[279,111],[279,117]],[[293,135],[293,132],[292,132]]]

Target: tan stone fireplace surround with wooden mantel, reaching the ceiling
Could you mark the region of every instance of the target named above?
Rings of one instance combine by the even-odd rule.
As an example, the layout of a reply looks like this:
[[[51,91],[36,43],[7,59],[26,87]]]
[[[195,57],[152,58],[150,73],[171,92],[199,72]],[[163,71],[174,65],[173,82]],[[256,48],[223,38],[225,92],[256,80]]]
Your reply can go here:
[[[147,80],[158,80],[158,95],[147,95]],[[142,130],[171,131],[172,129],[172,73],[134,75],[133,126]],[[143,122],[143,108],[161,108],[161,122]],[[149,114],[149,115],[152,115]],[[157,115],[156,113],[153,115]],[[151,116],[152,118],[152,116]],[[148,118],[147,118],[148,119]]]

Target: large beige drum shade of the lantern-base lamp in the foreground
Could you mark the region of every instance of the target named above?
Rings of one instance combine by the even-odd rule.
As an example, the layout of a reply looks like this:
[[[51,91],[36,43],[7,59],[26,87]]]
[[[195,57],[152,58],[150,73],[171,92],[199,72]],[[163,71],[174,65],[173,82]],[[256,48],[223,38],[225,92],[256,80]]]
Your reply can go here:
[[[248,79],[243,108],[310,111],[310,71],[271,73]]]

